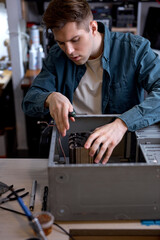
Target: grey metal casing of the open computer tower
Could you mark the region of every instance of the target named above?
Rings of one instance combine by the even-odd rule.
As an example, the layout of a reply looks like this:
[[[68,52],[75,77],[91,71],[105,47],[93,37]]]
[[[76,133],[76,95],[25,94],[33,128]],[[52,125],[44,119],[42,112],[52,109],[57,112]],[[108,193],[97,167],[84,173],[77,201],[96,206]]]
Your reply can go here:
[[[90,131],[110,122],[108,116],[78,117],[75,131]],[[79,125],[80,124],[80,125]],[[70,132],[73,131],[71,123]],[[65,139],[65,143],[67,138]],[[128,141],[132,148],[132,141]],[[124,141],[125,144],[127,142]],[[125,146],[124,146],[125,147]],[[60,164],[53,130],[49,156],[49,211],[59,221],[159,219],[160,165],[115,162]],[[128,152],[128,151],[127,151]]]

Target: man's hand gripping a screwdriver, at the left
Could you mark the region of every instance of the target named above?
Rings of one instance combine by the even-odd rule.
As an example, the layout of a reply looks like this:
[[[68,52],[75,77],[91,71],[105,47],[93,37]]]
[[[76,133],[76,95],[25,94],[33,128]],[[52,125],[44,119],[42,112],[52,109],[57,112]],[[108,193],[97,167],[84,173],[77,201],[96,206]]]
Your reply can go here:
[[[64,137],[69,129],[69,112],[73,112],[73,106],[64,95],[58,92],[51,93],[45,102],[45,107],[49,107],[50,115],[56,122],[56,126]],[[74,117],[70,117],[75,121]]]

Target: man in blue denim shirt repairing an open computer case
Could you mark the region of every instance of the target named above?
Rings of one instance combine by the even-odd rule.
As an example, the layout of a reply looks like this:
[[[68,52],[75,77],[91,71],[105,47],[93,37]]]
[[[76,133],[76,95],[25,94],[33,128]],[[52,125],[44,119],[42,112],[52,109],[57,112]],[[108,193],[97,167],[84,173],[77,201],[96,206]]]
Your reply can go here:
[[[113,33],[93,20],[85,0],[53,0],[43,16],[58,45],[23,100],[30,116],[50,112],[62,136],[68,114],[121,114],[95,129],[84,147],[105,164],[127,130],[160,121],[160,60],[149,41]],[[144,100],[143,88],[148,92]],[[75,121],[71,117],[72,121]]]

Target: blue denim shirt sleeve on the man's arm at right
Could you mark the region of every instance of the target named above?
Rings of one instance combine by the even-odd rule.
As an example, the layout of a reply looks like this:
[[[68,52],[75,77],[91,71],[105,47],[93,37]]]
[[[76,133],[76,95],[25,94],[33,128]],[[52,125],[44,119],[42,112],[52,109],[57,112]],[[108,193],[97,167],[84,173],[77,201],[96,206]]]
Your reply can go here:
[[[160,121],[160,59],[150,48],[148,40],[144,40],[138,47],[135,44],[133,61],[138,75],[138,84],[148,94],[144,101],[120,116],[129,131]]]

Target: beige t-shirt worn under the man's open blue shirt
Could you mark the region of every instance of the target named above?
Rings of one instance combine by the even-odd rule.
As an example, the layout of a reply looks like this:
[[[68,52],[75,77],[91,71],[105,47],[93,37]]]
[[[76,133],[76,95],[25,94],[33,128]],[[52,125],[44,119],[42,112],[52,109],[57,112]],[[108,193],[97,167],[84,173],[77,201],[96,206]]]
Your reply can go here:
[[[87,61],[86,73],[73,94],[73,107],[77,114],[102,113],[103,68],[101,65],[101,56]]]

